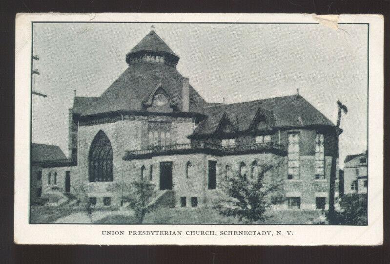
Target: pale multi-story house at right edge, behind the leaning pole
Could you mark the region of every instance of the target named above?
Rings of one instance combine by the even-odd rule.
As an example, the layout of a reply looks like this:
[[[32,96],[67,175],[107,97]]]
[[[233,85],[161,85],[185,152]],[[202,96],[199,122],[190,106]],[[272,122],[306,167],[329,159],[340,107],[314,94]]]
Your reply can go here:
[[[344,194],[367,194],[368,152],[348,155],[344,161]]]

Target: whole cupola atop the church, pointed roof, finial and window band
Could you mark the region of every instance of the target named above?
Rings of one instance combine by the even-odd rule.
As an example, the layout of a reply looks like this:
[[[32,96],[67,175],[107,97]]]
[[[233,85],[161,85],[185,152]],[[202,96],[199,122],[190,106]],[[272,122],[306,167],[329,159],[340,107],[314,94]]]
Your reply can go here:
[[[176,67],[179,59],[179,56],[154,32],[154,26],[126,55],[126,63],[128,65],[151,62],[164,63]]]

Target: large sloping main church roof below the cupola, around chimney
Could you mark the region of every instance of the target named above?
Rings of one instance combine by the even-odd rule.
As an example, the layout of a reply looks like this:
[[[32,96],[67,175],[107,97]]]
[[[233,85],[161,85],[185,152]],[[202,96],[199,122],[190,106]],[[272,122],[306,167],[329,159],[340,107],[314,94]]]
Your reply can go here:
[[[182,108],[182,75],[171,66],[163,63],[137,63],[128,68],[103,94],[93,100],[93,104],[82,112],[82,116],[118,110],[142,110],[142,102],[161,82],[179,109]],[[203,113],[205,100],[190,85],[189,111]]]

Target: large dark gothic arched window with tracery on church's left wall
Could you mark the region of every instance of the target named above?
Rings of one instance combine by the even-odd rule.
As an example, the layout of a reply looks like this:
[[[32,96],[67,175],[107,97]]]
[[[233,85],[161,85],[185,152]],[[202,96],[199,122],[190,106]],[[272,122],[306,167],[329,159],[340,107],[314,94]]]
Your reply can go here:
[[[112,157],[110,140],[99,131],[89,149],[89,181],[113,181]]]

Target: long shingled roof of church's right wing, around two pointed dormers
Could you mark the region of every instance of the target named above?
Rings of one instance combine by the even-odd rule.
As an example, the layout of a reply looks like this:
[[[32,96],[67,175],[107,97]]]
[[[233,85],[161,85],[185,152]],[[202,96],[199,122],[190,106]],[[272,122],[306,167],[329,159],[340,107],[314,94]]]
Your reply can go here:
[[[246,131],[253,122],[259,108],[263,110],[267,120],[271,120],[271,126],[274,128],[315,125],[334,126],[328,118],[315,109],[305,98],[295,94],[206,107],[205,114],[207,118],[196,127],[192,135],[215,133],[225,111],[236,113],[239,120],[239,131]]]

